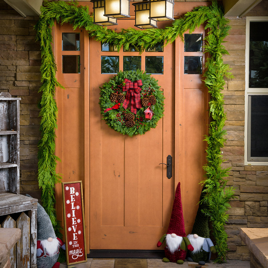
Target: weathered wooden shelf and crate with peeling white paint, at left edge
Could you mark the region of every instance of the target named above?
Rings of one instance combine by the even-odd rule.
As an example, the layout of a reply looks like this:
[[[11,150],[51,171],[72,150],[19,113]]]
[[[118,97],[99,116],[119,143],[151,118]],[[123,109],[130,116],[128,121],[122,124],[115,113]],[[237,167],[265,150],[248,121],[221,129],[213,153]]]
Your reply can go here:
[[[20,98],[0,94],[0,224],[22,231],[13,248],[16,268],[36,268],[37,199],[20,195]],[[16,258],[14,259],[14,256]],[[16,265],[15,265],[16,264]]]

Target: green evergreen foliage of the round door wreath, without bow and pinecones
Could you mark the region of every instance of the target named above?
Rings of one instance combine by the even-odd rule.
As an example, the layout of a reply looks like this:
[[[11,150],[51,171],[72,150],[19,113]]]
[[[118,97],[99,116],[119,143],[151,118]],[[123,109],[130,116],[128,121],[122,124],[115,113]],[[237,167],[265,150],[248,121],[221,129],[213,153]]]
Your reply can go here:
[[[105,110],[112,107],[116,102],[110,101],[110,94],[112,92],[122,93],[122,85],[124,85],[124,79],[127,78],[131,81],[142,80],[142,90],[140,92],[141,99],[149,95],[155,96],[156,103],[151,106],[151,109],[154,112],[151,120],[146,120],[144,116],[144,111],[148,106],[137,109],[137,114],[135,115],[135,125],[128,127],[125,125],[124,114],[130,113],[130,109],[124,109],[122,105],[119,109],[116,110]],[[101,88],[101,97],[99,105],[101,107],[102,119],[106,121],[106,124],[113,128],[114,130],[126,134],[130,137],[137,134],[144,134],[150,128],[155,128],[157,126],[158,120],[163,117],[163,105],[164,105],[164,96],[163,92],[159,90],[159,85],[157,80],[151,77],[149,74],[143,73],[141,70],[137,71],[125,71],[119,72],[115,75],[108,83],[104,83]]]

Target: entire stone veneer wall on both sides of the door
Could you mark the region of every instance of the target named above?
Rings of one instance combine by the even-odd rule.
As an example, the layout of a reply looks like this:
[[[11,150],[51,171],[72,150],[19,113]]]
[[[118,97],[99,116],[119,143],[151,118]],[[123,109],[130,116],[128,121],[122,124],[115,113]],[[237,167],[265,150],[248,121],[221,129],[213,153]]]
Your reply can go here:
[[[195,2],[202,2],[196,1]],[[198,5],[198,3],[197,3]],[[247,16],[268,16],[268,1],[260,2]],[[229,185],[237,188],[237,200],[231,202],[228,233],[229,259],[249,260],[247,246],[239,238],[241,227],[268,227],[268,167],[244,166],[244,96],[245,96],[245,17],[228,17],[230,35],[225,39],[230,55],[233,80],[223,91],[228,117],[226,146],[222,149],[231,167]],[[37,152],[40,139],[37,103],[40,99],[40,47],[35,43],[33,26],[38,17],[23,18],[0,0],[0,92],[21,97],[20,102],[20,192],[40,199],[37,182]]]

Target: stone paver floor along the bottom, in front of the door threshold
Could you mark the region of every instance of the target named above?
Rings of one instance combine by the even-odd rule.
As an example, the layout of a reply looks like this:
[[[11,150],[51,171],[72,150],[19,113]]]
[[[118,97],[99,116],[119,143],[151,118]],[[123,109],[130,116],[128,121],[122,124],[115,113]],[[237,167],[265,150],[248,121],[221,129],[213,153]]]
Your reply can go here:
[[[164,263],[162,259],[87,259],[87,262],[77,263],[67,266],[61,263],[60,268],[195,268],[198,266],[195,262],[184,264]],[[203,265],[202,268],[250,268],[250,262],[246,260],[227,260],[225,263],[216,263],[212,261]]]

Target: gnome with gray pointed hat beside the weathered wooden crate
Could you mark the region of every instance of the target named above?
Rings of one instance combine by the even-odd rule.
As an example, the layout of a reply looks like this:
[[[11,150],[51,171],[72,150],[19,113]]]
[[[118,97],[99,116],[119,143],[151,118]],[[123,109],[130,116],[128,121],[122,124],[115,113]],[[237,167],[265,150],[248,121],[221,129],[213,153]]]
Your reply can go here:
[[[37,203],[37,268],[58,268],[59,248],[63,241],[56,237],[49,215]]]

